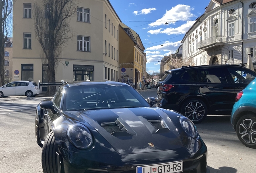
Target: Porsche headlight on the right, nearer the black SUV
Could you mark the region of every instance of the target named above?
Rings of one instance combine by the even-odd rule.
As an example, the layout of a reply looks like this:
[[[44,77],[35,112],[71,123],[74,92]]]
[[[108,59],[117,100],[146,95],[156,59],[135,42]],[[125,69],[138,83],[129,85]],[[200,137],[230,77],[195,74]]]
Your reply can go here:
[[[197,137],[197,131],[196,131],[196,127],[194,126],[194,123],[184,117],[181,116],[180,117],[180,124],[182,125],[182,128],[184,129],[184,131],[192,138],[196,138]]]

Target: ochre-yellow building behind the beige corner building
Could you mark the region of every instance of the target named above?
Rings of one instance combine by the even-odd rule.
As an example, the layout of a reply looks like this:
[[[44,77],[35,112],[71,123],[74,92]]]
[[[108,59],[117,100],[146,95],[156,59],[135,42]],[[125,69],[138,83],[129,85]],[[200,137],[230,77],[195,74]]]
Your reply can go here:
[[[140,36],[123,23],[119,26],[119,49],[120,82],[142,89],[147,62],[145,48]]]

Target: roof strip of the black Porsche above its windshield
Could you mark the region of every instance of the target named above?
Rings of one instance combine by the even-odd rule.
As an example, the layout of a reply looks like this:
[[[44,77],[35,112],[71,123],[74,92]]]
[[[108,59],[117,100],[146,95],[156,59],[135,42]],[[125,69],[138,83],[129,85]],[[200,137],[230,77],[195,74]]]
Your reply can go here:
[[[103,81],[76,81],[76,82],[66,82],[63,85],[66,87],[74,87],[78,85],[95,85],[95,84],[115,84],[115,85],[127,85],[130,86],[126,83],[122,82],[115,82],[115,81],[108,81],[108,80],[103,80]]]

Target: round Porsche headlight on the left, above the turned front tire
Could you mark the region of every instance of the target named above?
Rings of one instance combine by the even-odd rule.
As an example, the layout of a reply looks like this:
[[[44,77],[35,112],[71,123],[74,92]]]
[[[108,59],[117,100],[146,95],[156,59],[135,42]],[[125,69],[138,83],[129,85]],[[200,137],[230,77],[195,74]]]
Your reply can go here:
[[[91,132],[82,124],[70,125],[67,135],[68,140],[78,149],[88,149],[93,144]]]

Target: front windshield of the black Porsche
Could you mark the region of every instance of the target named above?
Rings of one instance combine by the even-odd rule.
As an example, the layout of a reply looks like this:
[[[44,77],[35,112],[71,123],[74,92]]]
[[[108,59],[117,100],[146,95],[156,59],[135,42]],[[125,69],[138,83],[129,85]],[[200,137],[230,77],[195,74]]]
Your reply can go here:
[[[65,90],[63,110],[149,107],[147,101],[127,85],[81,85]]]

